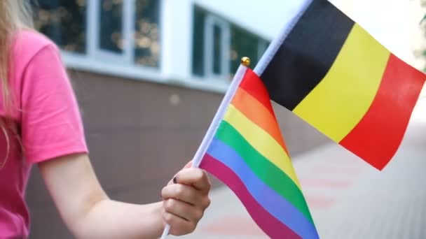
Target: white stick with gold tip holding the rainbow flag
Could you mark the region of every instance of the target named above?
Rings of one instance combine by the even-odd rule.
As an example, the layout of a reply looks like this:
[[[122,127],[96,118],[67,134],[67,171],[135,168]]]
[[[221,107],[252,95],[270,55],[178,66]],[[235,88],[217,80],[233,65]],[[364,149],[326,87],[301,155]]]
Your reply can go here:
[[[235,92],[240,86],[240,82],[242,78],[244,78],[245,72],[247,71],[247,67],[249,66],[249,64],[250,64],[250,59],[248,57],[242,57],[241,64],[238,67],[238,70],[235,73],[233,80],[231,81],[231,85],[229,85],[228,90],[226,91],[226,94],[224,96],[224,99],[222,99],[221,104],[219,105],[219,108],[217,109],[217,113],[213,117],[212,123],[210,124],[209,129],[207,129],[207,133],[202,139],[200,147],[198,147],[197,152],[195,152],[195,155],[192,161],[193,168],[198,168],[198,166],[200,166],[202,157],[207,151],[207,147],[209,147],[210,142],[212,142],[214,133],[216,133],[220,122],[224,118],[226,110],[228,109],[228,105],[231,103],[233,96],[235,95]],[[167,235],[169,234],[169,231],[170,231],[170,225],[167,224],[165,225],[163,235],[161,236],[160,239],[165,239]]]

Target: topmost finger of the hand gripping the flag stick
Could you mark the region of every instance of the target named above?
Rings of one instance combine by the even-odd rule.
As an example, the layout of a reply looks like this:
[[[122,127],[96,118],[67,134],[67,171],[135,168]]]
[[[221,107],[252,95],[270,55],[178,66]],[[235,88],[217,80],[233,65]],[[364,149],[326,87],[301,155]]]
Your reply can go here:
[[[184,168],[175,178],[177,183],[191,185],[199,191],[208,192],[211,187],[207,173],[200,168]]]

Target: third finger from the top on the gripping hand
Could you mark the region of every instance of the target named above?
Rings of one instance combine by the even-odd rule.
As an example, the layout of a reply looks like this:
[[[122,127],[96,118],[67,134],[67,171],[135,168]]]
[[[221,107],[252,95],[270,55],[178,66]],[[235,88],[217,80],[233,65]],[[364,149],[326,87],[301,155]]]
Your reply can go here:
[[[198,222],[204,214],[204,210],[201,208],[172,198],[163,201],[163,208],[165,212],[169,212],[188,222]]]

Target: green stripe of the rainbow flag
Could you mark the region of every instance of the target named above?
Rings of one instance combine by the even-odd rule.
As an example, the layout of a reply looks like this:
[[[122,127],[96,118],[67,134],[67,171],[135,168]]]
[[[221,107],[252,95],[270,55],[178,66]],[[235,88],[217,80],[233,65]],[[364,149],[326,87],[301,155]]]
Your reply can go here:
[[[240,154],[240,157],[244,159],[245,163],[260,180],[294,205],[313,224],[312,216],[301,190],[298,189],[287,174],[256,151],[231,124],[222,121],[215,138],[229,145]]]

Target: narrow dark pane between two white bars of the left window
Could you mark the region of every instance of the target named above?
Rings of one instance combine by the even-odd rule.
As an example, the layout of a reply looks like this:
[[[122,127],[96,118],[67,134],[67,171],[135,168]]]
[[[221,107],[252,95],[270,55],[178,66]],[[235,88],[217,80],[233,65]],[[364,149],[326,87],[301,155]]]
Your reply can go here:
[[[123,0],[100,1],[100,36],[102,50],[123,52]]]

